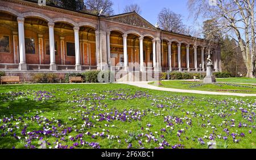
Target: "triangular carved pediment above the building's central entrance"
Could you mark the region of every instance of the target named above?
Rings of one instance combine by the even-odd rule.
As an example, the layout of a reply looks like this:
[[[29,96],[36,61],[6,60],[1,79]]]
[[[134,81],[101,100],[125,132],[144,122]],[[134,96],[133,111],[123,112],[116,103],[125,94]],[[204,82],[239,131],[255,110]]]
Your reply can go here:
[[[129,24],[131,26],[150,28],[156,30],[156,28],[151,23],[147,22],[146,19],[142,18],[142,16],[138,15],[136,12],[114,15],[110,16],[108,19],[119,23]]]

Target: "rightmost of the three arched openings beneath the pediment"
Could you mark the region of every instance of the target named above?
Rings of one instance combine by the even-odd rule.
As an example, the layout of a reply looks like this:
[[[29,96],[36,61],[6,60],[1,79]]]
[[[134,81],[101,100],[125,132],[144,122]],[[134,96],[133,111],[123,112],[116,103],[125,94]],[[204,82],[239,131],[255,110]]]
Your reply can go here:
[[[152,67],[153,64],[153,43],[152,37],[144,36],[143,39],[143,62],[146,67]]]

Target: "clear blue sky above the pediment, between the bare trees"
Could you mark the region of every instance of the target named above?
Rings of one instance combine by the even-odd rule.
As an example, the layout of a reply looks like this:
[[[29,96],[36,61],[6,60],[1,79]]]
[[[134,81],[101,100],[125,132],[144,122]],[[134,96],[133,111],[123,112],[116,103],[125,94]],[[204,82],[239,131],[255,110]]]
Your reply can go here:
[[[187,0],[112,0],[115,14],[121,14],[123,8],[131,3],[137,3],[141,6],[142,17],[155,26],[159,12],[164,8],[170,8],[183,17],[183,23],[188,26],[195,25],[193,18],[189,17]]]

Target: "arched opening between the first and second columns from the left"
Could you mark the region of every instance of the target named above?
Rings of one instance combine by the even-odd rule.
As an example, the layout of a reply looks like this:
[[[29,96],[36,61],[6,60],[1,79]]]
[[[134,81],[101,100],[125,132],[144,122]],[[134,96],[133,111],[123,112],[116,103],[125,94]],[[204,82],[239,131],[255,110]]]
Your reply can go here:
[[[26,63],[45,64],[43,50],[45,52],[49,50],[49,44],[47,45],[47,37],[49,36],[48,22],[41,18],[25,18],[24,36]],[[28,66],[28,70],[34,70],[36,68],[37,66]]]

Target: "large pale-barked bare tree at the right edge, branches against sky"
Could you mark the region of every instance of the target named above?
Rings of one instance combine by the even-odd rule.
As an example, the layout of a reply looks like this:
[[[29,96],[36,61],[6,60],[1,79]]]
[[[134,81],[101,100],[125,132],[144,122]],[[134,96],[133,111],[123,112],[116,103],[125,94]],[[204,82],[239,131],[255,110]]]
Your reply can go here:
[[[255,77],[255,0],[189,0],[188,7],[197,19],[212,19],[222,34],[236,40],[245,62],[246,77]],[[213,30],[214,31],[214,30]]]

